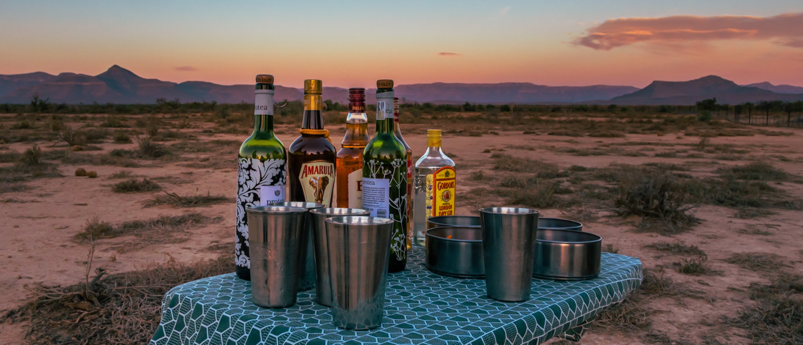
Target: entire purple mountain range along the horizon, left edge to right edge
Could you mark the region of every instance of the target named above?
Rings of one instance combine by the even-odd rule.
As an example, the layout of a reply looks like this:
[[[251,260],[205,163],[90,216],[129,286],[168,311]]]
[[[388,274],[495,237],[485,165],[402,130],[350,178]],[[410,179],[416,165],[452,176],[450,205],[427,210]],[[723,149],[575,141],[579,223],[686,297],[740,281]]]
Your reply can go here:
[[[803,87],[771,83],[740,86],[715,75],[685,82],[654,81],[643,89],[611,85],[552,87],[533,83],[418,83],[397,85],[394,89],[406,102],[431,103],[694,104],[711,97],[720,103],[803,99]],[[374,91],[366,90],[366,101],[375,100]],[[0,75],[0,103],[28,103],[33,95],[52,103],[155,103],[160,98],[184,103],[251,103],[254,86],[146,79],[117,65],[100,75],[69,72]],[[275,86],[277,101],[298,100],[303,95],[304,91],[296,87]],[[344,103],[348,95],[346,88],[324,87],[324,99]]]

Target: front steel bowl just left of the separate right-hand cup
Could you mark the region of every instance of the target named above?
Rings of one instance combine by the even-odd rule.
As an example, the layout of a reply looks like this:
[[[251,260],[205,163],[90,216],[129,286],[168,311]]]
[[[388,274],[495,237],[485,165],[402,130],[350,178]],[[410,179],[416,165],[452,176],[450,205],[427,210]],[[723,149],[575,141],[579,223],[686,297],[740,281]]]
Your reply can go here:
[[[465,226],[426,230],[426,268],[457,278],[483,278],[483,232]]]

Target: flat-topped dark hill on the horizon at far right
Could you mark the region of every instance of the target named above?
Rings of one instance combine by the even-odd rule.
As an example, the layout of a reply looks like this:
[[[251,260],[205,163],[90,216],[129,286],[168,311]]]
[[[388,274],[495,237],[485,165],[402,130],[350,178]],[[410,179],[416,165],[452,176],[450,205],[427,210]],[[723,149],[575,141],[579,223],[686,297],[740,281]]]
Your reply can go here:
[[[737,104],[761,100],[801,100],[803,94],[780,94],[759,87],[740,86],[731,80],[708,75],[685,82],[656,80],[633,93],[589,103],[691,105],[714,97],[718,103]]]

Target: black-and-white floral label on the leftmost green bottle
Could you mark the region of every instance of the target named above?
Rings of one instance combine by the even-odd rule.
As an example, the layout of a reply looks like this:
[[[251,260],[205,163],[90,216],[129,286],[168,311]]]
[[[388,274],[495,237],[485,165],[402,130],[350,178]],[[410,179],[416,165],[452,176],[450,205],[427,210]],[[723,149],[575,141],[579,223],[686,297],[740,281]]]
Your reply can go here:
[[[284,160],[240,158],[237,168],[237,238],[234,263],[251,269],[246,207],[284,201]]]

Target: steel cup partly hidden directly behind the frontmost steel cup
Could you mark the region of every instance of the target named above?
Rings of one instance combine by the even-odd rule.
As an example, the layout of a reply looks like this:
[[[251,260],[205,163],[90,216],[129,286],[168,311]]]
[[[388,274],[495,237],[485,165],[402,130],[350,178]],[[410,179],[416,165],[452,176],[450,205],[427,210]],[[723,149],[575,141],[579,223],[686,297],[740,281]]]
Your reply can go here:
[[[332,283],[329,280],[329,251],[326,241],[326,218],[344,216],[367,216],[365,209],[311,209],[312,248],[315,253],[316,289],[315,298],[322,306],[332,306]]]

